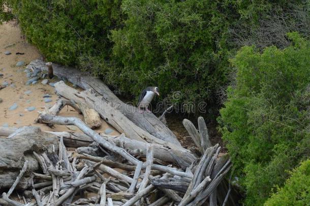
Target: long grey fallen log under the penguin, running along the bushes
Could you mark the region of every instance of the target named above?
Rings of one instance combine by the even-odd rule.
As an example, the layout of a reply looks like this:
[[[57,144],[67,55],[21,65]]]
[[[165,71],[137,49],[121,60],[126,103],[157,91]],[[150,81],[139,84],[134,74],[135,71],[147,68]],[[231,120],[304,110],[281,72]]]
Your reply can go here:
[[[84,90],[92,89],[96,91],[96,93],[102,95],[102,103],[114,105],[114,107],[117,107],[117,109],[131,122],[133,122],[144,131],[159,139],[172,142],[176,145],[180,145],[173,132],[165,124],[163,124],[154,114],[146,112],[142,114],[138,111],[137,107],[123,103],[99,78],[95,78],[94,76],[70,67],[64,67],[56,64],[52,64],[52,67],[54,75],[58,77],[65,77],[66,79],[68,79],[68,81],[81,87]],[[45,62],[41,60],[32,61],[27,66],[27,69],[35,68],[40,68],[43,71],[48,71]]]

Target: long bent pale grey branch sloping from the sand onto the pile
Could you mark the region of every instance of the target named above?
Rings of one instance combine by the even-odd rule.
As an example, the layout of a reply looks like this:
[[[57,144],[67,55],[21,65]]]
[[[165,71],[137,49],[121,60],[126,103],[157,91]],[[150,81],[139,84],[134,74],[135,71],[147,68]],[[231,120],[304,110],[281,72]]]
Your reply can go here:
[[[97,143],[99,143],[104,148],[116,154],[119,154],[120,156],[127,159],[129,162],[133,164],[137,164],[138,160],[136,158],[131,156],[125,150],[118,148],[117,146],[104,140],[99,134],[97,134],[94,130],[91,130],[80,119],[76,117],[62,117],[62,116],[53,116],[49,114],[40,114],[38,117],[38,121],[41,123],[52,123],[52,124],[58,124],[58,125],[75,125],[80,130],[82,130],[85,134],[93,138]]]

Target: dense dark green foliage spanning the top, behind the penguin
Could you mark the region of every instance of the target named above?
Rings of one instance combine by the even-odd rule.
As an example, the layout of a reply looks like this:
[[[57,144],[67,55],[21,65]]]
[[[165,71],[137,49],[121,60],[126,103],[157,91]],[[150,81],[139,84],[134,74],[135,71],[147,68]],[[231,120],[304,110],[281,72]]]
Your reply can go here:
[[[1,20],[15,15],[48,61],[100,75],[130,97],[147,85],[158,85],[162,97],[171,101],[209,106],[223,97],[236,46],[246,44],[235,36],[256,34],[259,19],[274,16],[275,9],[308,8],[307,1],[280,0],[0,0],[0,5]],[[303,17],[289,16],[283,24],[301,25],[296,21],[307,22]],[[180,92],[173,95],[175,91]]]

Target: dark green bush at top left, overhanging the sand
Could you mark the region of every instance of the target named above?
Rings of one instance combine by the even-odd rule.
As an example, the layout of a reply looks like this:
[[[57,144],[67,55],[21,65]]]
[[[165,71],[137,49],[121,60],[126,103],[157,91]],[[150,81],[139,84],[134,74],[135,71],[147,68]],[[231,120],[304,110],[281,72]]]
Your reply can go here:
[[[120,0],[0,0],[5,3],[47,60],[65,65],[77,65],[88,56],[108,57],[108,35],[122,20]],[[3,8],[0,13],[0,20],[12,16]]]

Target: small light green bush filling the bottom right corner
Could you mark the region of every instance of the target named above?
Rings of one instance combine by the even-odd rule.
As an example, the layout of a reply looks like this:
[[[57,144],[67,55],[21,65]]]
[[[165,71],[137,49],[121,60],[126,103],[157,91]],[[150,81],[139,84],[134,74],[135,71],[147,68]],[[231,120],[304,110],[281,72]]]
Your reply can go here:
[[[310,160],[302,162],[291,175],[284,186],[265,202],[265,206],[310,205]]]

